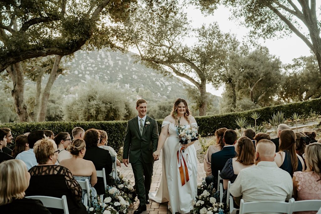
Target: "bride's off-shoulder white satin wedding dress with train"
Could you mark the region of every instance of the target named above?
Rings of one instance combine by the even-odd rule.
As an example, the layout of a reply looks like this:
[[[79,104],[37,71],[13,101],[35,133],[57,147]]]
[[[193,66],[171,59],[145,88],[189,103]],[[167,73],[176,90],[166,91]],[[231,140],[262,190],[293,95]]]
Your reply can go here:
[[[189,213],[192,209],[193,201],[197,195],[196,150],[194,145],[191,145],[182,153],[189,175],[189,181],[187,182],[184,161],[182,161],[185,178],[185,184],[182,185],[177,158],[180,143],[178,142],[175,124],[163,121],[162,127],[168,124],[169,135],[165,141],[162,154],[162,180],[158,191],[149,193],[149,198],[158,203],[169,201],[168,209],[173,214],[175,212],[185,214]],[[196,123],[190,125],[197,127]]]

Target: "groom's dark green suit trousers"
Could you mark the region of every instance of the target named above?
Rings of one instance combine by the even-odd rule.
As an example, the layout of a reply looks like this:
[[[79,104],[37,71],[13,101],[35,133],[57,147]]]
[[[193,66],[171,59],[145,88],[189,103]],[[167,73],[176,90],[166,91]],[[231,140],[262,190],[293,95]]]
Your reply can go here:
[[[146,197],[151,189],[153,166],[154,162],[145,163],[142,155],[135,163],[132,163],[135,188],[140,205],[146,205]]]

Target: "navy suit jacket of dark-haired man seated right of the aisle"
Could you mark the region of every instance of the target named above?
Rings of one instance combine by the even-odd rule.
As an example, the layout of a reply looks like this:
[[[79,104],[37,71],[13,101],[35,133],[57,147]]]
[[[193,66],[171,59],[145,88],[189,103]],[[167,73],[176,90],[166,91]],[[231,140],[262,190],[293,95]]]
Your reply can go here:
[[[223,147],[221,151],[215,152],[212,154],[211,157],[211,169],[212,169],[212,175],[213,175],[213,181],[217,181],[218,177],[217,174],[225,166],[225,163],[228,159],[234,158],[237,155],[235,152],[234,146],[229,147]]]

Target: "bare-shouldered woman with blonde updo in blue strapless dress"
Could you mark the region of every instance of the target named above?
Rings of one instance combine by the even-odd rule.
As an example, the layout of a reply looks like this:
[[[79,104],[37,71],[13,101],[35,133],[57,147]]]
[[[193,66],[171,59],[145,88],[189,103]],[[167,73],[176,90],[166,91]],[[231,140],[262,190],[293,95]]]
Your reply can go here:
[[[94,164],[89,160],[84,160],[83,156],[86,153],[86,143],[82,139],[75,139],[67,147],[67,150],[72,154],[72,158],[64,159],[60,162],[60,166],[66,167],[74,175],[77,181],[90,181],[91,196],[97,196],[96,190],[92,188],[97,183],[97,174]],[[82,190],[82,203],[86,191]]]

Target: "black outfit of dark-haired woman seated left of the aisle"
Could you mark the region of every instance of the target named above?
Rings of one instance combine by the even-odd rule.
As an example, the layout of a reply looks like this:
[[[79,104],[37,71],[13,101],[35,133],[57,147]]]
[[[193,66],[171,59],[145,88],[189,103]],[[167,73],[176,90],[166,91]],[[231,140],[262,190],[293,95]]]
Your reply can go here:
[[[108,150],[104,150],[99,147],[88,148],[83,156],[83,159],[92,161],[96,170],[102,170],[102,168],[105,168],[107,177],[111,173],[113,163]],[[98,195],[104,194],[104,179],[97,177],[97,184],[95,184],[94,188],[96,189]]]

